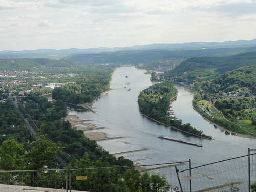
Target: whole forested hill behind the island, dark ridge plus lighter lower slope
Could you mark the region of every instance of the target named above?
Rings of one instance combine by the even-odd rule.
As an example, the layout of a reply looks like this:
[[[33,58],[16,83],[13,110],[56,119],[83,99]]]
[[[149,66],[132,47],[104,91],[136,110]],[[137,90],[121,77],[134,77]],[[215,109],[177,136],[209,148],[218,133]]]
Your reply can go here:
[[[241,53],[228,57],[193,57],[165,72],[166,75],[163,76],[162,81],[185,84],[204,83],[208,86],[209,81],[220,74],[255,64],[256,52]],[[158,77],[153,74],[152,80],[158,80]]]

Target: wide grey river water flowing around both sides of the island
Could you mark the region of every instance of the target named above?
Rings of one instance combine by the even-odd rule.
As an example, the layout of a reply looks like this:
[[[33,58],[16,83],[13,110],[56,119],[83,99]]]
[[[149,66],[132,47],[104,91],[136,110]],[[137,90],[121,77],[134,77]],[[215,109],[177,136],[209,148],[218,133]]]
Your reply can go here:
[[[171,109],[183,123],[190,123],[197,130],[211,135],[213,140],[183,134],[144,117],[139,112],[138,95],[140,91],[153,84],[150,81],[150,75],[145,75],[144,72],[135,67],[117,68],[110,85],[112,90],[92,105],[93,110],[96,111],[95,114],[90,111],[70,112],[71,115],[79,116],[79,119],[92,120],[90,123],[97,127],[105,127],[97,131],[105,132],[110,138],[123,137],[98,142],[106,151],[114,154],[148,148],[145,151],[120,156],[133,161],[141,159],[136,163],[142,165],[191,159],[195,167],[247,155],[248,148],[255,148],[256,140],[226,135],[224,131],[204,120],[192,107],[193,90],[185,87],[176,86],[178,96],[173,101]],[[128,91],[129,89],[131,90]],[[203,147],[160,139],[159,135],[202,144]]]

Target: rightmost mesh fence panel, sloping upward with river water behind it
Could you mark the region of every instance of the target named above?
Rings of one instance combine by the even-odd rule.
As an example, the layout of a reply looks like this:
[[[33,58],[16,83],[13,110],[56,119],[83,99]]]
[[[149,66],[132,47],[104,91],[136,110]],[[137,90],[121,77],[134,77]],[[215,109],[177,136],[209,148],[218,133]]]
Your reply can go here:
[[[251,158],[249,169],[248,157]],[[191,179],[191,191],[249,191],[250,184],[256,182],[256,156],[245,155],[191,169],[179,170],[179,177],[183,191],[190,191],[189,180]],[[253,160],[252,160],[253,159]],[[252,168],[253,167],[253,168]],[[191,175],[189,174],[191,172]],[[249,173],[251,180],[249,181]],[[189,176],[189,177],[188,177]]]

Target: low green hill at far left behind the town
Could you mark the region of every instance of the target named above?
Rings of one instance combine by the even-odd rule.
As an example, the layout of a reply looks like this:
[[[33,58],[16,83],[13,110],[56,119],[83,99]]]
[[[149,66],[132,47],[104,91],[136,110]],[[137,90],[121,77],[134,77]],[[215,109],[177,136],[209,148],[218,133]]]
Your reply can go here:
[[[70,60],[36,59],[0,59],[0,70],[28,70],[40,68],[78,68],[79,65]]]

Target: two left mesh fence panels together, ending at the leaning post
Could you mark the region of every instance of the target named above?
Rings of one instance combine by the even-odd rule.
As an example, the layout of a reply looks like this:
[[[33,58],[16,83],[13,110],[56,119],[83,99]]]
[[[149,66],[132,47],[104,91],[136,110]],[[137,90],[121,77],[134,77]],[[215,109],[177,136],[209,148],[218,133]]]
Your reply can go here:
[[[46,169],[26,171],[0,171],[0,192],[9,191],[122,191],[120,180],[128,169],[139,173],[144,177],[145,183],[136,183],[143,189],[148,182],[147,176],[157,175],[165,178],[169,188],[178,187],[175,166],[182,169],[189,168],[189,162],[176,162],[154,165],[125,166],[125,167],[102,167],[86,169]],[[138,172],[137,172],[138,171]],[[129,172],[126,173],[129,178]],[[132,179],[132,178],[131,178]],[[129,181],[127,181],[129,182]],[[158,181],[156,181],[157,183]],[[150,183],[151,185],[151,183]],[[150,186],[154,188],[153,186]],[[131,190],[132,191],[132,190]],[[143,191],[147,191],[144,188]],[[164,191],[158,187],[156,191]]]

